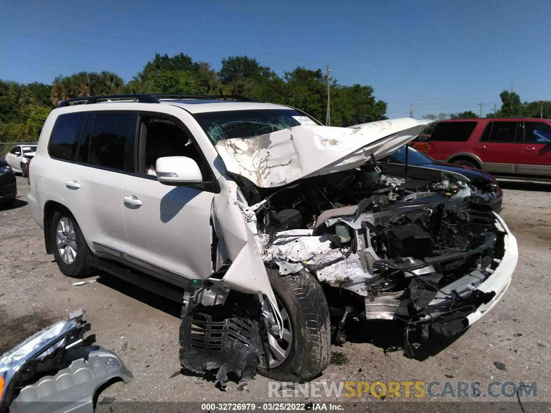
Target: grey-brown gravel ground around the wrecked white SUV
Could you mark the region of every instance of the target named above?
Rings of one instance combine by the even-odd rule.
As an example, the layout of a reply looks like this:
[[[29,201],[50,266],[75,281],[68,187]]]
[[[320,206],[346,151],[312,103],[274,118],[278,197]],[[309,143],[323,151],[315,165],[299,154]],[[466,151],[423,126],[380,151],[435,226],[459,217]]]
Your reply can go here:
[[[97,281],[93,284],[72,286],[74,280],[45,253],[26,204],[26,180],[17,179],[17,204],[0,210],[0,354],[83,307],[96,344],[117,351],[135,377],[129,384],[115,383],[101,397],[267,400],[268,380],[261,376],[245,389],[229,382],[223,392],[212,380],[179,373],[178,305],[102,273],[91,278]],[[320,381],[537,381],[537,399],[551,401],[551,184],[500,185],[501,215],[517,237],[519,260],[509,290],[493,311],[451,344],[421,348],[413,359],[404,356],[401,332],[391,324],[363,325],[352,342],[333,347],[332,364]],[[496,361],[506,370],[496,368]]]

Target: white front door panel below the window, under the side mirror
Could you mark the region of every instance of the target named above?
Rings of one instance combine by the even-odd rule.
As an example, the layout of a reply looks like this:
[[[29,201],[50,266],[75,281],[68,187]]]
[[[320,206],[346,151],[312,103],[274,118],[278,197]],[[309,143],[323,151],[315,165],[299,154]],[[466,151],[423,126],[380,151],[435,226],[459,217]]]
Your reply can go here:
[[[189,279],[212,273],[210,208],[213,193],[173,187],[147,177],[128,176],[122,197],[129,256]],[[122,198],[121,198],[122,202]]]

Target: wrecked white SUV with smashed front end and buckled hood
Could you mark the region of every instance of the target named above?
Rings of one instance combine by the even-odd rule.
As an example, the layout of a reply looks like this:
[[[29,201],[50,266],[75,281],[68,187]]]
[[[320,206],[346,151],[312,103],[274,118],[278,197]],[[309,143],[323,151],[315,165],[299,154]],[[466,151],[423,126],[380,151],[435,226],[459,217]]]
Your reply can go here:
[[[184,367],[304,381],[348,317],[450,336],[509,286],[515,238],[467,177],[378,162],[429,121],[336,128],[240,97],[106,98],[47,118],[31,211],[62,273],[100,268],[183,303]]]

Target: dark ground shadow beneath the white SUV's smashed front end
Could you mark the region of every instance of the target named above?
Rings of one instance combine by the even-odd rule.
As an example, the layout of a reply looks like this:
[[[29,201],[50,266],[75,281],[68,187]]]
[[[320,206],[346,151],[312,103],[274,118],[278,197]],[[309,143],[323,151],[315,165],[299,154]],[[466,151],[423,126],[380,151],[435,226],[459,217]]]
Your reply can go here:
[[[422,343],[420,335],[409,334],[409,344],[413,350],[413,359],[424,361],[433,357],[454,341],[460,338],[467,330],[453,336],[449,339],[429,337],[426,343]],[[380,349],[385,354],[392,352],[401,352],[404,357],[406,354],[406,340],[404,338],[404,329],[396,322],[380,320],[371,322],[351,322],[346,326],[347,340],[350,343],[370,343]]]

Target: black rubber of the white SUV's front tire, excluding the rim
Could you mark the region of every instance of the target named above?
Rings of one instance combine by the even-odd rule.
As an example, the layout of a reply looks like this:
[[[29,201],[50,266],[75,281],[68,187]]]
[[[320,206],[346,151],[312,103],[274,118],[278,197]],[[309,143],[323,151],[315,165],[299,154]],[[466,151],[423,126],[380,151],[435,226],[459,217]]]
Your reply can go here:
[[[260,373],[277,381],[309,381],[331,359],[331,322],[325,294],[320,283],[306,271],[279,276],[277,270],[268,270],[268,276],[274,294],[289,316],[293,341],[283,363],[266,368],[264,357]]]

